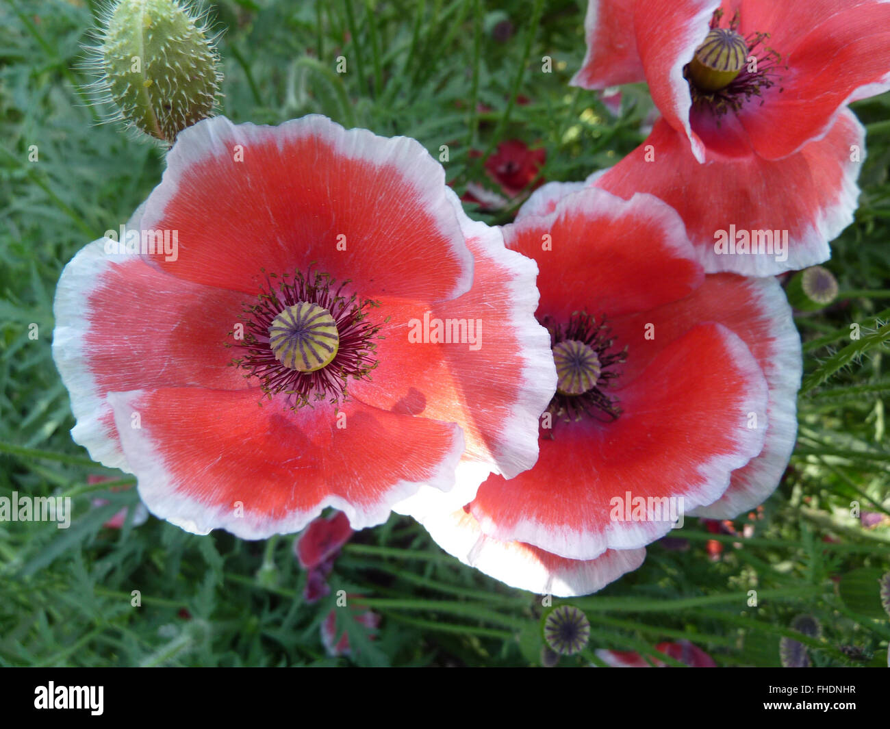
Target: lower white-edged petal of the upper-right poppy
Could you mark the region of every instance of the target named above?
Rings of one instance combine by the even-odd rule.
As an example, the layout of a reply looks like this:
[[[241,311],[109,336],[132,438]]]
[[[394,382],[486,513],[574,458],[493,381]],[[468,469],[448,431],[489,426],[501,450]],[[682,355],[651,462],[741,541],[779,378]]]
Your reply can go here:
[[[649,138],[596,182],[622,198],[649,192],[683,218],[705,270],[769,276],[803,269],[829,258],[829,240],[853,222],[859,197],[856,179],[864,159],[864,129],[849,110],[829,134],[796,155],[770,162],[754,155],[723,158],[708,154],[700,165],[684,138],[659,120]],[[645,161],[646,154],[654,161]],[[718,255],[718,231],[788,231],[783,257],[768,254]]]

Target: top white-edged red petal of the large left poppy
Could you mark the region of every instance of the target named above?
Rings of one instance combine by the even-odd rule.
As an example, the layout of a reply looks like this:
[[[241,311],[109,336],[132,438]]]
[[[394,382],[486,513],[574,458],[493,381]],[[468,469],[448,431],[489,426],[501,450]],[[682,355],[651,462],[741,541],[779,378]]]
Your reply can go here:
[[[470,288],[445,173],[415,140],[314,115],[275,127],[214,117],[183,130],[166,161],[138,227],[178,231],[176,260],[151,257],[181,279],[255,294],[260,269],[314,262],[364,298]]]

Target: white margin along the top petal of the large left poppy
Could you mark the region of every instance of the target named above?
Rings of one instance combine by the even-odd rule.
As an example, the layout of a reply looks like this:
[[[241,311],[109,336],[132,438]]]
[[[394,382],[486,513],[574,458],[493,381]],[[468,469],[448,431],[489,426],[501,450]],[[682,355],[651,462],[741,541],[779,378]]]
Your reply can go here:
[[[415,139],[404,136],[382,137],[368,129],[345,129],[320,114],[291,119],[279,126],[255,125],[249,122],[235,125],[226,117],[211,117],[183,129],[166,156],[167,166],[161,183],[152,191],[142,208],[142,227],[157,227],[156,223],[170,200],[182,194],[182,175],[191,166],[198,165],[206,158],[228,158],[231,156],[232,142],[243,145],[247,150],[251,144],[267,144],[272,141],[282,149],[285,142],[307,138],[328,142],[338,154],[347,159],[373,166],[392,165],[399,168],[404,179],[417,192],[417,198],[411,200],[411,204],[431,212],[441,235],[449,240],[450,250],[443,250],[440,255],[450,255],[460,265],[461,275],[449,296],[445,297],[446,300],[470,290],[473,285],[473,255],[460,235],[453,207],[442,195],[442,190],[450,190],[445,184],[445,169]],[[405,204],[405,200],[392,200],[394,206]]]

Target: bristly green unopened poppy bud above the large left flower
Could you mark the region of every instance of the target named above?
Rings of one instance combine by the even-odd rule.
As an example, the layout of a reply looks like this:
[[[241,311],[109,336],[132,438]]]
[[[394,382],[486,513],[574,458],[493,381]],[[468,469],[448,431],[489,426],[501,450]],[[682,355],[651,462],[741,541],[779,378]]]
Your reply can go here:
[[[222,76],[201,15],[177,0],[121,0],[93,54],[125,122],[165,142],[214,109]]]

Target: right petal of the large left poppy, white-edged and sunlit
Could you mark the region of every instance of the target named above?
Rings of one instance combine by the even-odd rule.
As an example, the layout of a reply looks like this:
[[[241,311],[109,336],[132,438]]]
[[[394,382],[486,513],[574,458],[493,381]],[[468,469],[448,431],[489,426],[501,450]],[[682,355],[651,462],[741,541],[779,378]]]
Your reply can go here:
[[[372,381],[349,385],[353,397],[376,407],[461,426],[467,457],[489,466],[476,469],[472,492],[455,507],[492,470],[512,477],[534,464],[538,416],[556,388],[550,337],[534,317],[537,267],[507,250],[498,229],[463,213],[461,220],[475,260],[473,289],[443,304],[384,299],[379,312],[389,321],[381,322]],[[448,334],[461,341],[431,341],[436,320],[443,330],[457,321],[458,336],[450,337],[452,327]],[[412,342],[412,332],[422,341]]]

